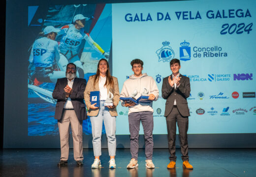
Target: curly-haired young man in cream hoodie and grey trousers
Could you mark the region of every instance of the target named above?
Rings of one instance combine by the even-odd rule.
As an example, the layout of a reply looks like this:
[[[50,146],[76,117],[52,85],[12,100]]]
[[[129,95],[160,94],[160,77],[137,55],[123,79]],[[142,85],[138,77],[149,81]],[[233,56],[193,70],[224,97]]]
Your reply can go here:
[[[141,96],[141,93],[145,89],[148,90],[149,100],[156,101],[159,96],[159,90],[156,82],[147,73],[142,74],[143,61],[140,59],[133,59],[131,62],[131,70],[134,72],[129,79],[125,81],[123,89],[121,91],[121,97],[129,97],[132,95],[134,90],[137,90],[138,94],[135,96],[137,99]],[[145,138],[145,155],[146,155],[146,167],[155,168],[152,162],[153,156],[153,108],[151,103],[128,103],[122,101],[122,106],[128,107],[128,121],[129,121],[129,132],[130,132],[130,153],[131,160],[127,168],[138,167],[138,151],[139,151],[139,127],[140,121],[144,130]]]

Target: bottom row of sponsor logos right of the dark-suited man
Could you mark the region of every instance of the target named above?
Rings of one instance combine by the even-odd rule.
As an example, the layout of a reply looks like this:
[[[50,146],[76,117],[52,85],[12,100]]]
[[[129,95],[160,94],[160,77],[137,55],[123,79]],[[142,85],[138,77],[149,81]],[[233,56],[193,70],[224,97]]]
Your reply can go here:
[[[229,107],[223,108],[222,110],[216,110],[215,108],[211,107],[209,110],[204,110],[202,108],[198,108],[195,113],[198,115],[210,115],[210,116],[230,116],[230,115],[246,115],[247,113],[252,112],[256,115],[256,106],[250,108],[249,110],[246,108],[236,108],[236,109],[229,109]],[[190,108],[190,114],[192,114],[192,110]]]

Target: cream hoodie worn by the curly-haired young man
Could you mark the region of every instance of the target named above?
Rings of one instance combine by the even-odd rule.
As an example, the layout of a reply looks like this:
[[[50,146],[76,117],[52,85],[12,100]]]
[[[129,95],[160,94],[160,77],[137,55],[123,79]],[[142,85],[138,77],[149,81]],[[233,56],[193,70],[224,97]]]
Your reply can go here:
[[[129,76],[129,79],[125,81],[123,85],[123,89],[121,91],[120,96],[121,97],[129,97],[132,92],[136,89],[138,91],[138,94],[135,96],[137,99],[141,96],[141,93],[143,92],[144,88],[148,89],[148,94],[154,94],[156,96],[155,100],[158,99],[159,96],[159,90],[157,87],[156,82],[151,76],[148,76],[147,73],[142,74],[140,77],[135,77],[134,74]],[[122,106],[124,106],[124,102],[121,100]],[[130,113],[136,113],[136,112],[143,112],[143,111],[150,111],[154,112],[152,108],[152,102],[151,103],[139,103],[136,106],[130,106],[129,112]]]

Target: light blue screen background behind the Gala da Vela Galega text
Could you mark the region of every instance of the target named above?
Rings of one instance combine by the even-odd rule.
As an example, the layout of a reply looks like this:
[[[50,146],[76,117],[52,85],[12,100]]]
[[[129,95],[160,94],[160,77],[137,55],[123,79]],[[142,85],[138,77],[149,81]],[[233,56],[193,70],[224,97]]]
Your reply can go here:
[[[234,9],[233,14],[228,17],[229,9]],[[243,12],[244,17],[241,16]],[[207,11],[212,10],[218,18],[207,18]],[[175,12],[185,12],[178,20]],[[224,11],[224,12],[223,12]],[[232,10],[230,10],[232,13]],[[247,17],[245,17],[246,12]],[[168,15],[171,20],[157,19],[157,13]],[[197,12],[200,18],[195,18]],[[223,15],[224,13],[224,15]],[[132,22],[126,21],[125,16],[132,17]],[[138,15],[134,21],[135,15]],[[142,19],[141,19],[142,14]],[[148,14],[151,20],[146,20]],[[191,49],[191,59],[181,60],[180,73],[191,78],[191,96],[188,104],[191,112],[189,117],[189,134],[207,133],[256,133],[256,98],[243,98],[243,92],[256,91],[256,1],[254,0],[192,0],[192,1],[170,1],[170,2],[147,2],[147,3],[117,3],[112,4],[112,39],[113,39],[113,76],[118,77],[119,88],[122,90],[123,83],[127,76],[133,74],[130,66],[132,59],[144,61],[143,72],[157,80],[160,75],[161,81],[157,83],[161,95],[162,79],[171,74],[169,62],[159,61],[156,53],[162,42],[168,41],[169,48],[174,51],[174,58],[180,59],[181,43],[186,40]],[[225,18],[227,16],[227,18]],[[250,17],[251,16],[251,17]],[[197,16],[198,17],[198,16]],[[234,18],[232,18],[234,17]],[[188,18],[188,19],[186,19]],[[237,34],[238,25],[245,24],[245,27],[253,23],[250,32],[243,31]],[[222,26],[233,25],[229,32],[235,29],[234,33],[221,34]],[[241,25],[239,27],[242,27]],[[247,27],[246,29],[249,29]],[[238,31],[239,32],[239,31]],[[203,52],[196,51],[196,48],[221,47],[220,57],[203,56]],[[200,53],[200,58],[195,53]],[[218,53],[219,51],[213,51]],[[226,55],[226,57],[224,57]],[[249,74],[252,77],[248,80],[234,80],[234,74]],[[210,76],[214,79],[211,79]],[[225,75],[218,77],[220,75]],[[224,81],[217,79],[221,78]],[[158,79],[159,81],[159,79]],[[233,98],[232,93],[239,93],[238,98]],[[203,93],[203,98],[198,93]],[[210,98],[219,95],[224,98]],[[229,108],[226,112],[224,109]],[[167,134],[164,115],[165,100],[161,97],[153,103],[154,112],[154,134]],[[160,108],[160,114],[157,109]],[[197,109],[203,109],[203,115],[196,114]],[[245,111],[235,111],[243,109]],[[128,108],[118,105],[117,134],[129,134],[128,131]],[[212,113],[212,114],[211,114]],[[223,116],[225,115],[225,116]],[[140,127],[143,134],[143,128]],[[178,130],[177,130],[178,133]]]

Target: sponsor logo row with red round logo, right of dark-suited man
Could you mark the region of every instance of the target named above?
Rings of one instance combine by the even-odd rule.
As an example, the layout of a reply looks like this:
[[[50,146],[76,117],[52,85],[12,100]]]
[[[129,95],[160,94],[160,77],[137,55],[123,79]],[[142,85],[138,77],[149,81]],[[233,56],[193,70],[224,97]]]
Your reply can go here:
[[[234,98],[234,99],[237,99],[239,98],[239,96],[243,97],[243,98],[255,98],[256,97],[256,94],[255,92],[242,92],[241,95],[237,92],[237,91],[234,91],[232,92],[231,95],[228,95],[228,94],[224,94],[224,92],[219,92],[218,94],[212,94],[212,95],[209,95],[209,99],[212,99],[212,100],[216,100],[216,99],[229,99],[229,98]],[[203,100],[206,98],[204,92],[202,91],[199,91],[197,93],[197,97],[199,98],[199,100]],[[195,97],[192,96],[192,93],[190,93],[190,97],[188,98],[188,100],[194,100]]]

